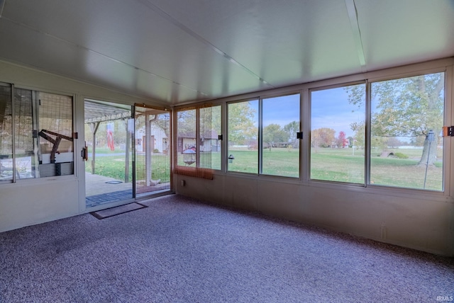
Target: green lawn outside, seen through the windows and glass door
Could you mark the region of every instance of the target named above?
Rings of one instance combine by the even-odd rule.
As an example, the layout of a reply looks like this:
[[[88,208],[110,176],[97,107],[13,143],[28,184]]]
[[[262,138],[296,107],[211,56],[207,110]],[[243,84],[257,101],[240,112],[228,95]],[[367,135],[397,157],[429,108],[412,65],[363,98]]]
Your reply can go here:
[[[437,162],[429,167],[426,173],[425,166],[417,166],[421,157],[421,149],[396,149],[408,156],[408,159],[382,157],[380,152],[372,151],[370,183],[374,185],[389,185],[402,188],[419,188],[424,186],[429,190],[443,190],[443,164]],[[109,154],[109,156],[96,157],[96,173],[110,176],[120,180],[124,179],[124,156],[119,154],[124,151],[110,151],[109,149],[96,149],[96,153]],[[438,151],[440,153],[440,151]],[[111,155],[110,155],[111,154]],[[228,164],[228,171],[243,173],[258,173],[257,150],[229,149],[228,154],[233,154],[233,163]],[[263,150],[262,173],[271,176],[299,177],[299,151],[297,149],[273,148]],[[178,157],[178,164],[186,166],[182,156]],[[221,168],[221,153],[202,153],[202,167]],[[335,181],[344,183],[365,183],[365,158],[364,151],[352,149],[319,148],[311,150],[310,178],[321,181]],[[145,179],[144,156],[137,156],[136,167],[138,180]],[[192,164],[195,167],[195,164]],[[170,181],[169,156],[153,154],[152,179],[161,179],[162,182]],[[87,161],[86,170],[91,171],[91,162]],[[130,165],[130,172],[132,168]],[[130,173],[130,178],[132,173]],[[424,185],[424,182],[426,183]]]

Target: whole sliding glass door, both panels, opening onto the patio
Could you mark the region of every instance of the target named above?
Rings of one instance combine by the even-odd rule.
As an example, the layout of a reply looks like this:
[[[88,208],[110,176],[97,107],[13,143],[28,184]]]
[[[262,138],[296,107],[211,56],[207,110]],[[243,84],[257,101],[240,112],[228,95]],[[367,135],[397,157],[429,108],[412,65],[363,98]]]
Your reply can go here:
[[[96,207],[170,191],[170,112],[85,99],[85,202]]]

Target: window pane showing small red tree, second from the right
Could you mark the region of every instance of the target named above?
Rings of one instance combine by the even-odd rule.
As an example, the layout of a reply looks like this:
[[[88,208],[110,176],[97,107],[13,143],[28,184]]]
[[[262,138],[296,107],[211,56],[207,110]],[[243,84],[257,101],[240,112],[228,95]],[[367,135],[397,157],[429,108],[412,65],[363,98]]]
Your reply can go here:
[[[365,183],[365,84],[311,92],[311,179]]]

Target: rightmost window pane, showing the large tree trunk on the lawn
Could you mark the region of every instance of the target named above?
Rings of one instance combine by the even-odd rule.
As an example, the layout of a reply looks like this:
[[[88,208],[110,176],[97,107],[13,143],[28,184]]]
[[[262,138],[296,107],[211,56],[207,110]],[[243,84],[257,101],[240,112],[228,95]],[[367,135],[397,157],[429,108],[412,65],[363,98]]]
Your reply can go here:
[[[443,190],[444,73],[372,83],[370,183]]]

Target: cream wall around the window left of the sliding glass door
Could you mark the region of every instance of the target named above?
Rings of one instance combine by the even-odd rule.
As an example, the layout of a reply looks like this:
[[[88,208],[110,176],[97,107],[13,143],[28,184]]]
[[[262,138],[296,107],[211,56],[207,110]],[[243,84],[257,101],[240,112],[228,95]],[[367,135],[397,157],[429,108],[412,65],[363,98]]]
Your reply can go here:
[[[77,127],[79,139],[74,142],[74,176],[18,180],[17,183],[0,184],[0,232],[87,212],[84,207],[84,175],[82,173],[80,176],[80,171],[77,171],[77,167],[83,165],[79,151],[84,142],[83,112],[81,112],[84,96],[130,105],[133,103],[153,105],[155,103],[2,61],[0,61],[0,81],[40,91],[75,95],[74,108],[79,110],[75,117],[79,123]],[[79,184],[82,184],[80,188]]]

